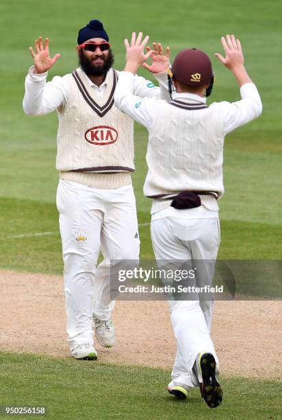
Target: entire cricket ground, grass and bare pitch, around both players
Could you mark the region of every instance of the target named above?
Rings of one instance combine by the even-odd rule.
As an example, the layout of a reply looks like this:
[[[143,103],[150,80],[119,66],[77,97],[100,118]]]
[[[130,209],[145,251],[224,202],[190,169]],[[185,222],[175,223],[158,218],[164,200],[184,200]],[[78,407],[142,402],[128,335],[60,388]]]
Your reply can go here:
[[[47,406],[50,419],[279,419],[278,300],[216,302],[213,337],[224,396],[215,410],[203,404],[198,389],[186,401],[166,392],[175,342],[165,302],[118,302],[116,347],[100,348],[97,362],[68,357],[55,207],[57,117],[27,117],[21,104],[28,47],[39,35],[49,36],[51,54],[61,54],[51,78],[77,66],[77,30],[90,19],[105,24],[117,69],[125,62],[123,38],[133,30],[170,45],[172,58],[184,47],[212,57],[221,52],[220,36],[234,33],[264,110],[225,141],[219,257],[281,259],[281,3],[145,0],[92,7],[86,0],[3,0],[0,12],[0,406]],[[231,73],[212,62],[216,84],[209,102],[240,99]],[[150,202],[142,195],[146,139],[136,126],[133,185],[141,257],[150,259]]]

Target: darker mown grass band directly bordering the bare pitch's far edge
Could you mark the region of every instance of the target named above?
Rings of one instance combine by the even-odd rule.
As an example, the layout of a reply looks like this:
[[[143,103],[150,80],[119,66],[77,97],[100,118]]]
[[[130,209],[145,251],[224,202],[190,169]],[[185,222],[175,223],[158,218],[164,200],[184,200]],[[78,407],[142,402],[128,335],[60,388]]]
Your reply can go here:
[[[1,268],[61,274],[62,246],[55,205],[2,198],[0,210]],[[139,212],[138,215],[140,223],[148,222],[148,213]],[[218,256],[221,259],[281,258],[282,229],[279,225],[222,220],[221,230]],[[47,235],[28,236],[41,232]],[[22,234],[27,236],[14,237]],[[149,226],[140,226],[140,240],[140,257],[153,259]]]

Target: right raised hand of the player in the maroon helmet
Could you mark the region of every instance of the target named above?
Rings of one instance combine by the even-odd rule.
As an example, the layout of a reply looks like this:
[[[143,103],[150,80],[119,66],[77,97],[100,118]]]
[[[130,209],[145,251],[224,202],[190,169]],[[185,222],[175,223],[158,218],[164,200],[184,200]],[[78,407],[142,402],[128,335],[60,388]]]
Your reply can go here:
[[[244,67],[244,57],[240,40],[235,39],[234,35],[227,35],[226,39],[224,36],[221,37],[221,43],[226,56],[224,58],[221,54],[214,54],[218,60],[229,70],[233,70],[236,67]]]

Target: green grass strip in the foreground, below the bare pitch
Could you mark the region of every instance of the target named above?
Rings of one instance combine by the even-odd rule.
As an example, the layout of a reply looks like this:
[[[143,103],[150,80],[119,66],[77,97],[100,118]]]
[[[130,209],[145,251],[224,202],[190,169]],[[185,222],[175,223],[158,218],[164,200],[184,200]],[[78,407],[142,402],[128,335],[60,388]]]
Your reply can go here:
[[[50,419],[279,419],[279,382],[221,378],[222,405],[198,388],[168,395],[170,372],[140,366],[0,353],[1,406],[46,406]],[[21,416],[21,418],[25,418]],[[31,418],[31,416],[26,417]]]

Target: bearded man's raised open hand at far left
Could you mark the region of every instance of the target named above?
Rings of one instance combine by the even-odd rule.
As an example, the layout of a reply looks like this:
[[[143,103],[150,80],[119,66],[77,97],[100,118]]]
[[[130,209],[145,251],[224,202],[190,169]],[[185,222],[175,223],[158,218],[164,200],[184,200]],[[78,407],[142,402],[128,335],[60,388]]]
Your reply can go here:
[[[55,54],[53,58],[49,55],[49,39],[45,38],[45,47],[43,45],[42,36],[35,40],[36,53],[32,47],[29,47],[30,54],[34,59],[34,73],[44,73],[53,67],[60,54]]]

